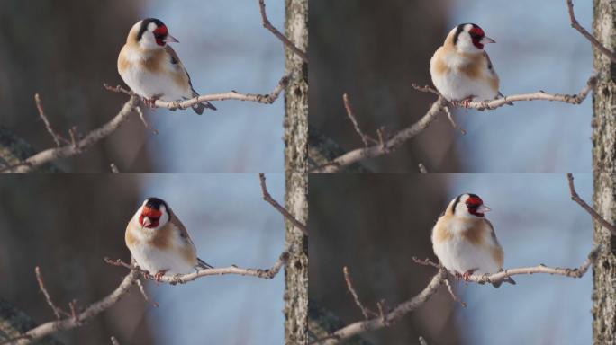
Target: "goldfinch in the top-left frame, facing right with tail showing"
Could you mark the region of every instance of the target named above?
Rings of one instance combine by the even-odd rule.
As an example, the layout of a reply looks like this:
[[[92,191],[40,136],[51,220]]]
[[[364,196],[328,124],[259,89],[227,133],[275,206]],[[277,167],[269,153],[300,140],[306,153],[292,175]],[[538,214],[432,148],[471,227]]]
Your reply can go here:
[[[167,43],[177,42],[167,26],[148,18],[134,24],[118,57],[118,72],[132,90],[154,106],[156,100],[175,102],[199,95],[176,52]],[[205,108],[216,110],[210,102],[195,104],[201,115]]]

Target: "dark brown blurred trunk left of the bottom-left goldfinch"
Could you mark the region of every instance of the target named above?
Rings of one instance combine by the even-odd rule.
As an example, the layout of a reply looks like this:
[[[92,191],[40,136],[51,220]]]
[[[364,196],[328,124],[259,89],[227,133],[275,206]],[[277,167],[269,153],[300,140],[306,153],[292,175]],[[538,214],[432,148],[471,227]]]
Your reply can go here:
[[[0,299],[36,323],[55,320],[39,290],[36,266],[56,305],[65,309],[72,299],[85,306],[117,288],[126,270],[103,258],[130,260],[123,234],[140,202],[137,175],[3,175],[0,195]],[[113,335],[122,344],[149,344],[148,307],[133,288],[85,326],[54,337],[67,344],[107,344]]]

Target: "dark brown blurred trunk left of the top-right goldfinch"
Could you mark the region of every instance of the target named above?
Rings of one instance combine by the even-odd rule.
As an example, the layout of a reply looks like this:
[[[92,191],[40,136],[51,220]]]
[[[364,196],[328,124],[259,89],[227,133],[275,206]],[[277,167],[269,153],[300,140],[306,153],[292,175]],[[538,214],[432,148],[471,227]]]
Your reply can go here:
[[[428,111],[435,96],[412,84],[431,84],[430,57],[450,29],[448,7],[448,0],[310,2],[310,137],[316,164],[323,163],[313,149],[321,146],[320,136],[345,151],[363,146],[343,93],[349,93],[359,126],[371,137],[382,126],[389,134],[406,128]],[[361,164],[380,172],[418,172],[419,163],[429,172],[459,171],[455,137],[442,118],[394,153]]]

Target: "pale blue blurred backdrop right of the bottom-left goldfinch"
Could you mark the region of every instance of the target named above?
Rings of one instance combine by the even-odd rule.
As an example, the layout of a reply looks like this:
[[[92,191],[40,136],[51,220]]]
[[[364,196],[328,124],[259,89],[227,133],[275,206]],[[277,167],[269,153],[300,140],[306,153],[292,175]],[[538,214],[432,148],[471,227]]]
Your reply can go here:
[[[261,196],[257,173],[141,175],[142,197],[165,199],[214,267],[267,269],[283,251],[283,217]],[[284,175],[267,188],[284,201]],[[136,205],[137,208],[139,205]],[[159,303],[147,318],[159,344],[282,344],[284,271],[275,279],[212,276],[186,285],[148,283]]]

